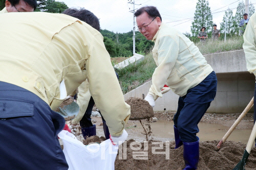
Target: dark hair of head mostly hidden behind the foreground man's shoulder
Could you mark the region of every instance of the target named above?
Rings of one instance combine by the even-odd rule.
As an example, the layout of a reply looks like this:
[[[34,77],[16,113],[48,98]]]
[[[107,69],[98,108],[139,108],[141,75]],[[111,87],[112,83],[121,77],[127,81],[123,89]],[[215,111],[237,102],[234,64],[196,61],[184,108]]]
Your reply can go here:
[[[80,19],[81,21],[88,23],[94,29],[100,31],[99,19],[89,10],[86,10],[84,8],[68,8],[63,11],[62,14],[66,14],[74,18]]]

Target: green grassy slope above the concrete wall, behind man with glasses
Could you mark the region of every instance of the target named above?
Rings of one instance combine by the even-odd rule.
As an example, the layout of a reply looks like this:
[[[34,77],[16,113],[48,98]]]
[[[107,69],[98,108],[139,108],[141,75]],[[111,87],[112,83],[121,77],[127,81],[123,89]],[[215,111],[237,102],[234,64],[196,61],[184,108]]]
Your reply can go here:
[[[207,41],[206,44],[196,43],[200,52],[205,54],[219,53],[225,51],[234,51],[243,49],[243,37],[233,37],[224,41]],[[119,82],[123,94],[135,89],[151,79],[156,68],[152,53],[145,55],[145,59],[137,64],[130,64],[129,66],[117,70],[119,75]]]

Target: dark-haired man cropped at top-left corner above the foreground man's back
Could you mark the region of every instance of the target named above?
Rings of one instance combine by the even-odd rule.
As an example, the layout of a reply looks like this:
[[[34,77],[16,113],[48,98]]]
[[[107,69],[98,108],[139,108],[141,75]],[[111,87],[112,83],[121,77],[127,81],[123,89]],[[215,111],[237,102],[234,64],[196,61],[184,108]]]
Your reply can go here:
[[[0,14],[7,12],[33,12],[36,6],[36,0],[6,0],[5,8],[0,11]]]

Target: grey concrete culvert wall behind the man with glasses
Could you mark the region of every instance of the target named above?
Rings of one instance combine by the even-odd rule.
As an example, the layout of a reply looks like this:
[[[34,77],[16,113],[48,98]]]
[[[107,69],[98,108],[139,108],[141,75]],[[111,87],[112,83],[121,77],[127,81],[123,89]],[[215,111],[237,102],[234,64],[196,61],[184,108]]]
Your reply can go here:
[[[207,62],[215,70],[218,78],[217,94],[208,113],[240,113],[250,102],[254,93],[255,77],[246,69],[246,61],[243,50],[217,53],[204,56]],[[151,87],[149,81],[140,87],[124,95],[124,99],[130,97],[143,98]],[[172,90],[165,93],[163,98],[158,98],[154,111],[176,111],[179,96]],[[253,112],[253,107],[250,110]]]

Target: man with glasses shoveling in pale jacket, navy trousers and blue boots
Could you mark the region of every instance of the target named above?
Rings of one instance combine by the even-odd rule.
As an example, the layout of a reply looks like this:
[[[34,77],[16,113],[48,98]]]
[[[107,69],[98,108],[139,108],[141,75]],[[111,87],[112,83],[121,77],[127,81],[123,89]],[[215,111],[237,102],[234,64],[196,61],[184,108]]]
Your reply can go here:
[[[154,107],[165,83],[180,96],[174,116],[176,148],[184,146],[184,169],[197,169],[198,123],[215,98],[216,74],[193,42],[162,23],[156,7],[142,7],[134,15],[141,34],[155,42],[152,52],[157,68],[145,100]]]

